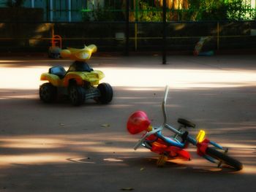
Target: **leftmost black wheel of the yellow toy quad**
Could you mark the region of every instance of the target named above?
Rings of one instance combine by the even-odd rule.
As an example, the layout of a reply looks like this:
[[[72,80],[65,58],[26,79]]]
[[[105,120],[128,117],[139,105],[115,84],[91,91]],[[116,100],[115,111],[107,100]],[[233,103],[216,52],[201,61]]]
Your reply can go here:
[[[51,103],[56,99],[57,88],[50,82],[42,84],[39,88],[39,97],[45,103]]]

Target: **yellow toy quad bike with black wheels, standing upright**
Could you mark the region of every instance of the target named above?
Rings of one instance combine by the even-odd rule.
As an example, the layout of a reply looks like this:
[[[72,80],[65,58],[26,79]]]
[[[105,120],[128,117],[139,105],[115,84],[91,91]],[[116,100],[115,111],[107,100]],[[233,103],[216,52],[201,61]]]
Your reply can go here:
[[[107,82],[99,83],[104,73],[92,69],[87,63],[91,53],[96,52],[95,45],[83,49],[67,48],[61,50],[62,58],[75,60],[66,71],[63,66],[53,66],[48,73],[41,74],[40,80],[48,81],[40,85],[39,97],[45,103],[67,96],[75,106],[87,99],[108,104],[113,98],[113,89]]]

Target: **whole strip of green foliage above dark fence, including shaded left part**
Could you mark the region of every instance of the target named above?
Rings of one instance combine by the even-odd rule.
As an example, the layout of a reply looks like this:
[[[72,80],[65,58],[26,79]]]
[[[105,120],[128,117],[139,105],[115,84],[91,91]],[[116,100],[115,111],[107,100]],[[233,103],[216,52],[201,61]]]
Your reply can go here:
[[[91,4],[91,9],[82,9],[84,21],[124,20],[122,1],[110,1],[102,7]],[[130,1],[130,20],[161,22],[162,7],[153,0]],[[167,20],[255,20],[256,10],[249,0],[188,0],[189,8],[167,9]]]

